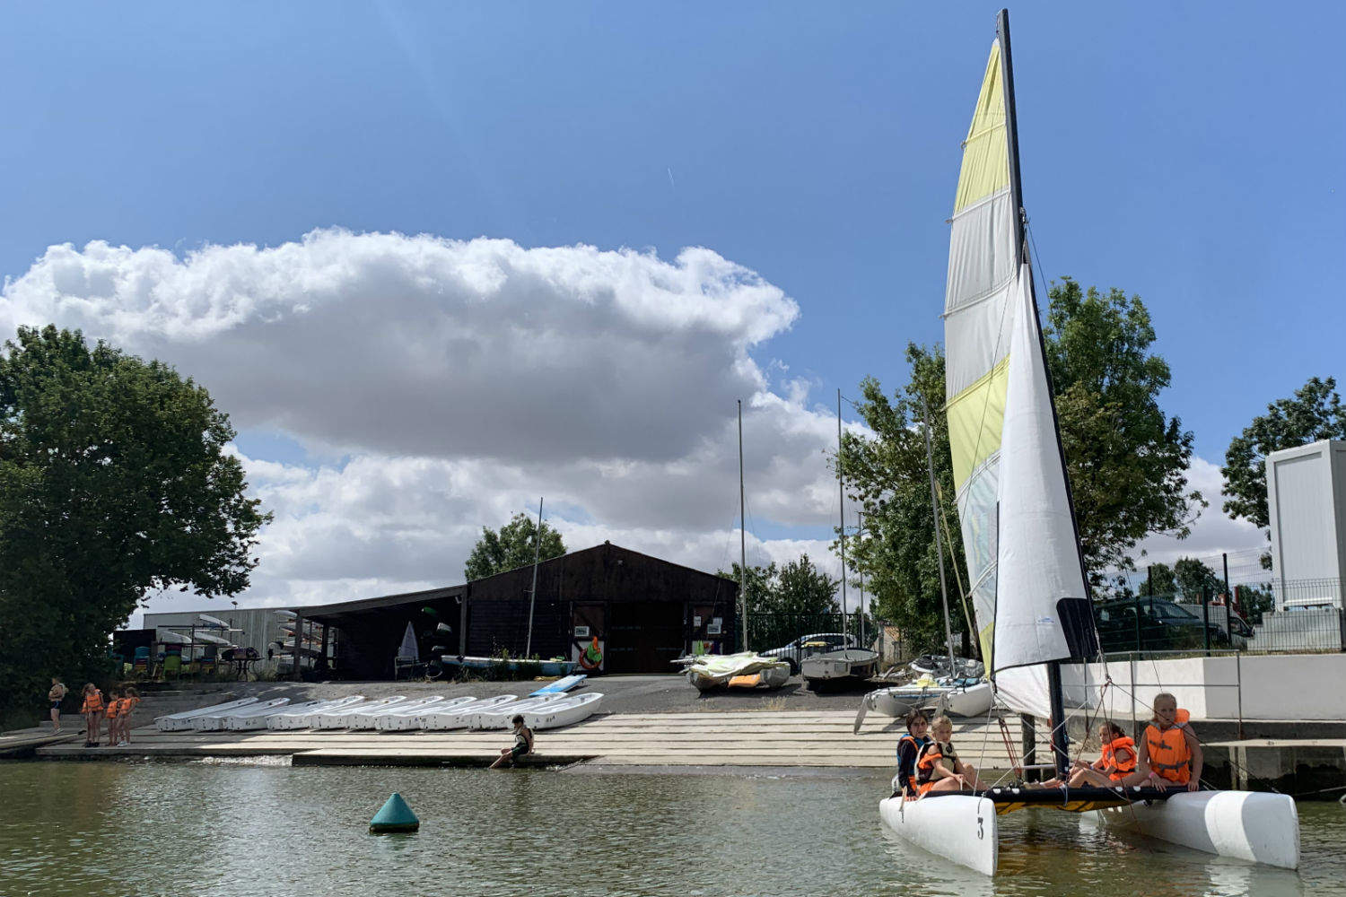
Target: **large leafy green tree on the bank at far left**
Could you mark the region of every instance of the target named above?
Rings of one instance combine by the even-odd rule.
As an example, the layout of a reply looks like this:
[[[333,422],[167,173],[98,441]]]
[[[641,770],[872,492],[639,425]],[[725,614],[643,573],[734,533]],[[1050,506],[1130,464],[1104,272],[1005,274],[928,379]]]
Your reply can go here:
[[[167,364],[55,327],[5,342],[0,714],[52,672],[105,678],[109,633],[147,592],[248,588],[271,515],[245,496],[233,437],[206,390]]]

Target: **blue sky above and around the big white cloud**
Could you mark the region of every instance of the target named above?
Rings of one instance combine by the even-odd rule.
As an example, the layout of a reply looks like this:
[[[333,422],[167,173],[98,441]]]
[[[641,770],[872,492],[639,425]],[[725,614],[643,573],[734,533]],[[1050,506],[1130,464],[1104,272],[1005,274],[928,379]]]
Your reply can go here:
[[[186,260],[332,227],[489,237],[524,250],[630,247],[665,262],[700,246],[797,305],[766,336],[743,331],[730,343],[746,347],[763,393],[793,401],[821,433],[837,387],[853,397],[875,375],[895,389],[905,344],[942,338],[945,221],[997,8],[16,7],[0,35],[0,273],[19,281],[62,243],[77,253],[89,241],[157,246]],[[1308,377],[1346,381],[1346,5],[1034,3],[1011,12],[1039,274],[1145,300],[1172,367],[1166,410],[1195,433],[1198,455],[1218,464],[1253,416]],[[32,307],[15,311],[15,296],[11,317],[24,319]],[[385,299],[362,301],[377,311]],[[59,308],[59,323],[97,329]],[[248,389],[217,389],[211,378],[229,371],[194,368],[199,352],[175,355],[164,348],[172,336],[151,325],[113,332],[137,351],[164,350],[230,397],[252,460],[314,471],[373,452],[435,457],[419,442],[371,448],[276,412],[250,414]],[[338,351],[359,358],[393,342],[385,336]],[[302,381],[304,370],[273,375]],[[732,402],[713,414],[731,418]],[[782,421],[773,434],[794,432]],[[821,464],[818,452],[809,463]],[[762,459],[760,476],[779,463]],[[522,510],[536,504],[526,495],[556,488],[545,464],[518,469],[497,487],[507,500],[468,503],[468,515]],[[276,481],[302,473],[267,471]],[[271,481],[265,471],[252,479]],[[626,537],[614,541],[719,563],[704,559],[704,545],[688,547],[693,535],[668,535],[705,529],[692,518],[622,522],[580,485],[560,492],[575,539],[607,520]],[[754,533],[786,539],[770,550],[781,557],[825,516],[771,507],[758,500]],[[464,531],[501,522],[474,519]],[[631,535],[641,527],[664,535]],[[446,551],[460,553],[462,539]],[[436,578],[345,576],[346,585],[312,593],[425,577]],[[303,592],[293,582],[283,577],[258,597]]]

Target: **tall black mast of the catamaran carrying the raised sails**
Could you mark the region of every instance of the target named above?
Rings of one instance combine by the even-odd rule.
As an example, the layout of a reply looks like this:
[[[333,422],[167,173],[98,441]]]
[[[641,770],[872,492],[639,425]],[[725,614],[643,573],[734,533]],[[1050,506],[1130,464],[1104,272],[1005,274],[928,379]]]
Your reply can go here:
[[[1010,145],[1010,191],[1014,196],[1014,210],[1015,210],[1015,243],[1018,246],[1018,257],[1023,265],[1028,269],[1028,299],[1032,303],[1032,313],[1036,320],[1040,319],[1038,309],[1038,293],[1034,289],[1032,282],[1032,261],[1028,253],[1028,245],[1026,238],[1027,214],[1023,207],[1023,182],[1019,173],[1019,118],[1015,105],[1015,90],[1014,90],[1014,55],[1010,51],[1010,11],[1001,9],[996,16],[996,36],[1000,40],[1000,54],[1001,65],[1004,66],[1004,101],[1005,101],[1005,136]],[[1047,374],[1047,390],[1049,394],[1054,394],[1051,387],[1051,370],[1046,364],[1047,347],[1046,339],[1042,335],[1042,327],[1038,327],[1038,351],[1043,359],[1043,368]],[[1074,527],[1075,535],[1075,557],[1079,559],[1079,576],[1084,581],[1085,601],[1092,605],[1092,594],[1089,589],[1089,572],[1085,569],[1084,563],[1084,550],[1079,545],[1079,520],[1075,518],[1075,502],[1074,495],[1070,490],[1070,473],[1066,471],[1066,453],[1061,444],[1061,418],[1057,416],[1057,402],[1051,401],[1051,422],[1053,429],[1057,436],[1057,457],[1061,461],[1061,477],[1066,485],[1066,499],[1070,508],[1070,522]],[[1093,627],[1092,607],[1089,627]],[[1063,620],[1063,624],[1067,621]],[[1067,637],[1070,632],[1067,629]],[[1081,647],[1088,644],[1090,639],[1082,639]],[[1092,639],[1093,647],[1097,650],[1097,635]],[[1047,664],[1047,691],[1049,699],[1051,702],[1051,752],[1053,760],[1057,764],[1057,775],[1065,776],[1070,765],[1070,737],[1066,734],[1066,719],[1065,719],[1065,699],[1062,697],[1061,686],[1061,662],[1051,660]]]

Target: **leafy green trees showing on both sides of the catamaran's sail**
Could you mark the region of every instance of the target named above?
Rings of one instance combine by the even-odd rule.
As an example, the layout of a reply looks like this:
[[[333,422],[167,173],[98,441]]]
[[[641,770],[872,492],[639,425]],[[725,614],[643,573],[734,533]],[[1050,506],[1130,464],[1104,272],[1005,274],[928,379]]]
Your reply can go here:
[[[1149,348],[1155,332],[1139,297],[1082,290],[1065,278],[1050,290],[1043,338],[1086,569],[1096,584],[1109,568],[1129,569],[1149,533],[1187,535],[1199,492],[1187,490],[1193,437],[1159,407],[1168,366]],[[890,399],[865,378],[856,405],[872,436],[845,433],[840,463],[851,496],[864,507],[868,538],[851,549],[879,611],[918,646],[944,641],[940,566],[925,451],[930,409],[950,623],[965,632],[968,588],[956,508],[942,348],[909,344],[907,385]],[[923,402],[923,405],[922,405]],[[851,547],[851,546],[848,546]]]

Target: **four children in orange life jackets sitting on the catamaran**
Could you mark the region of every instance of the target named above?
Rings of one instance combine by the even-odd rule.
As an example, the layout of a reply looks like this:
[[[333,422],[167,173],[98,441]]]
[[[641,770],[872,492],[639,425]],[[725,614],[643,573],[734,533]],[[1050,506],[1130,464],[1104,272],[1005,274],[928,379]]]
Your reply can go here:
[[[927,726],[933,737],[926,734]],[[1077,760],[1067,779],[1051,779],[1040,787],[1201,788],[1201,742],[1187,725],[1187,713],[1178,709],[1178,699],[1168,693],[1155,695],[1154,718],[1145,726],[1139,746],[1112,721],[1098,726],[1098,740],[1102,745],[1098,760]],[[907,714],[907,734],[898,740],[894,797],[905,795],[915,800],[930,792],[981,791],[985,787],[977,777],[977,768],[958,758],[949,717],[935,717],[930,724],[921,710]]]

